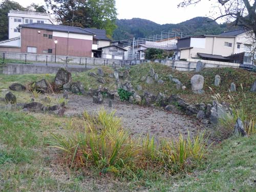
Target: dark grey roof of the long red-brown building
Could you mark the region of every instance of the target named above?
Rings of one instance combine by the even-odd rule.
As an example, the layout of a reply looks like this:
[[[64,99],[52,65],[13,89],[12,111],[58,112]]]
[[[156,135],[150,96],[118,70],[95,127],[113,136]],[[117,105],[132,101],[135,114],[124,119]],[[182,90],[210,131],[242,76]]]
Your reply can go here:
[[[48,30],[48,31],[61,31],[61,32],[71,32],[71,33],[94,35],[93,32],[88,31],[86,29],[82,29],[80,27],[64,26],[64,25],[33,23],[33,24],[24,24],[24,25],[20,25],[20,26],[23,28],[32,28],[32,29],[42,29],[42,30]]]

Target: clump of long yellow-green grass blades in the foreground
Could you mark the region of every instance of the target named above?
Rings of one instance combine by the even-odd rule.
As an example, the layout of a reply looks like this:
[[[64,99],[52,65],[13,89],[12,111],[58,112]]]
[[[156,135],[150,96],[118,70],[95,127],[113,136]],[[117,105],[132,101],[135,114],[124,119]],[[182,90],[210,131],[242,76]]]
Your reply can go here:
[[[187,159],[201,160],[207,151],[203,134],[193,139],[180,135],[177,140],[160,143],[149,136],[132,138],[114,114],[103,109],[97,115],[84,112],[84,131],[72,131],[68,136],[52,134],[52,146],[62,150],[73,167],[95,167],[100,173],[135,178],[139,170],[177,173],[187,165]]]

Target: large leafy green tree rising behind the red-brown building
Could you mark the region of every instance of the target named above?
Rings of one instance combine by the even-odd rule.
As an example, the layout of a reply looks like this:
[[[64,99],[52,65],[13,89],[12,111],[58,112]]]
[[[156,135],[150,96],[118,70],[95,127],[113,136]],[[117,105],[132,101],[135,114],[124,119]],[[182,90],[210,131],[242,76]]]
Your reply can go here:
[[[105,29],[111,37],[117,16],[115,0],[45,0],[62,25]]]

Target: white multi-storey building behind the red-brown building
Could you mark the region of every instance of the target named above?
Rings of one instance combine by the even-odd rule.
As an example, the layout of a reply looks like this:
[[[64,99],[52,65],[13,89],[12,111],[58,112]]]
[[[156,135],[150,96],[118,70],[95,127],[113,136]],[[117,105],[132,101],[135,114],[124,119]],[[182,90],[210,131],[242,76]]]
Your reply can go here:
[[[9,17],[9,39],[19,37],[17,27],[23,24],[40,23],[54,24],[54,20],[48,13],[38,13],[34,11],[14,11],[8,13]]]

